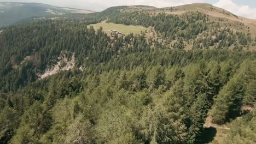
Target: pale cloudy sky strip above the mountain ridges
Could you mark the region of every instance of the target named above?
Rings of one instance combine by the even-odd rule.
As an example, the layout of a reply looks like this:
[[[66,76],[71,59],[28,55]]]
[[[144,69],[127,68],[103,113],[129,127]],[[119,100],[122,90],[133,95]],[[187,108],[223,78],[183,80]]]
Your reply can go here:
[[[102,11],[117,5],[152,5],[154,7],[171,7],[189,3],[211,3],[232,13],[256,19],[255,0],[0,0],[0,2],[38,2],[59,7],[71,7]]]

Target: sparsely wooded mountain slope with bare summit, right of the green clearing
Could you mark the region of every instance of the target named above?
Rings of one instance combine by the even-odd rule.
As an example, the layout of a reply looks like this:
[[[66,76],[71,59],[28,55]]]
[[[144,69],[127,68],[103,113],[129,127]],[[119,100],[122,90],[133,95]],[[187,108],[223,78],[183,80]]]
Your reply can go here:
[[[141,8],[137,10],[136,8]],[[146,6],[112,7],[106,13],[108,22],[154,27],[158,43],[171,49],[243,49],[256,50],[254,20],[243,19],[211,4],[188,4],[178,7]],[[144,35],[148,35],[144,33]],[[149,37],[150,38],[150,37]]]

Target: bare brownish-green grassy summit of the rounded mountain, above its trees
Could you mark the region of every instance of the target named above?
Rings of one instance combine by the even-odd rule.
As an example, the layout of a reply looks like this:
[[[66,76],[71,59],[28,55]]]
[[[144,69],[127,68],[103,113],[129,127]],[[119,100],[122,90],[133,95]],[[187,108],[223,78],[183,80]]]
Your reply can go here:
[[[122,12],[131,12],[131,11],[145,11],[150,14],[172,14],[172,15],[184,15],[187,13],[195,13],[200,12],[202,14],[206,14],[212,21],[219,21],[219,19],[223,19],[225,22],[220,22],[222,26],[224,23],[244,23],[246,27],[251,28],[251,33],[254,37],[256,37],[256,20],[248,19],[246,17],[241,17],[230,13],[230,11],[224,10],[222,8],[215,7],[212,4],[207,3],[193,3],[180,5],[177,7],[166,7],[166,8],[155,8],[155,7],[147,7],[144,5],[135,5],[119,8]],[[234,27],[234,29],[240,29],[241,27]],[[248,29],[243,29],[244,32],[247,32]]]

